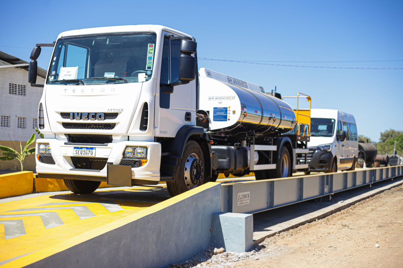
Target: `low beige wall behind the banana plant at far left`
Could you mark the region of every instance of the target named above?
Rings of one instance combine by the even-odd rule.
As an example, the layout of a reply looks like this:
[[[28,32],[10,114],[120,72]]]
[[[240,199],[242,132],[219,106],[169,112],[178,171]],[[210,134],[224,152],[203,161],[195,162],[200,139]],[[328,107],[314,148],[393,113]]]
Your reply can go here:
[[[32,134],[34,132],[35,132],[35,130],[33,130]],[[27,142],[23,141],[22,142],[23,148],[24,148],[25,144],[27,144]],[[0,145],[13,148],[14,150],[16,150],[18,152],[21,151],[19,141],[3,141],[2,140],[2,141],[0,141]],[[35,143],[33,143],[31,145],[31,147],[35,147]],[[1,154],[1,152],[3,152],[3,151],[0,150],[0,154]],[[35,171],[35,169],[36,169],[35,155],[34,154],[28,155],[27,157],[25,157],[25,160],[24,160],[24,171]],[[21,171],[20,161],[18,161],[18,160],[11,160],[11,161],[0,160],[0,170]]]

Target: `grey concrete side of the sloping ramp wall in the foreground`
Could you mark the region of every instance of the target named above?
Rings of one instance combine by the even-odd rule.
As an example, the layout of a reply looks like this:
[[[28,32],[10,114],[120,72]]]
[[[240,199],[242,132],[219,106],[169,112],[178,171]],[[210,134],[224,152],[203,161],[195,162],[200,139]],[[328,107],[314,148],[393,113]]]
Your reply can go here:
[[[171,204],[175,198],[156,206]],[[166,267],[191,258],[210,245],[212,214],[220,211],[221,184],[215,184],[28,266]]]

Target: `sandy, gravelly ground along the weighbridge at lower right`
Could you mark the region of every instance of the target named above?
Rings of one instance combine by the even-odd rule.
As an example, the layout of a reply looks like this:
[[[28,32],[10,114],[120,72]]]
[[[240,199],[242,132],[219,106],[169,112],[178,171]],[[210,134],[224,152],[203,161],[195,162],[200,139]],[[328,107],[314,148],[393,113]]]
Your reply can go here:
[[[210,247],[168,267],[403,267],[403,186],[266,238],[250,252]]]

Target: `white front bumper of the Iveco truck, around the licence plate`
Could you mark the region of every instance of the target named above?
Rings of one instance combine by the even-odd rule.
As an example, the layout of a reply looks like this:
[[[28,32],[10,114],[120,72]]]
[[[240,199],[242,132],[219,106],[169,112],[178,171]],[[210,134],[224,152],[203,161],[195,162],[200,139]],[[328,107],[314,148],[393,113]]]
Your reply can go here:
[[[139,167],[131,167],[131,178],[142,181],[160,181],[161,144],[158,142],[121,141],[108,143],[107,145],[73,145],[56,139],[38,139],[36,141],[36,155],[38,155],[38,143],[48,143],[50,145],[52,149],[51,157],[54,162],[54,164],[52,161],[46,161],[45,163],[43,162],[43,158],[41,162],[38,160],[38,157],[35,157],[36,172],[43,177],[106,182],[107,164],[119,165],[126,146],[142,146],[147,147],[147,163]],[[77,160],[77,157],[81,156],[73,156],[74,147],[96,148],[95,158],[100,158],[100,161],[105,163],[105,165],[100,170],[77,168],[77,165],[75,166],[72,161],[72,157],[76,157]],[[40,155],[45,156],[44,154]],[[93,157],[87,158],[90,161],[94,160]]]

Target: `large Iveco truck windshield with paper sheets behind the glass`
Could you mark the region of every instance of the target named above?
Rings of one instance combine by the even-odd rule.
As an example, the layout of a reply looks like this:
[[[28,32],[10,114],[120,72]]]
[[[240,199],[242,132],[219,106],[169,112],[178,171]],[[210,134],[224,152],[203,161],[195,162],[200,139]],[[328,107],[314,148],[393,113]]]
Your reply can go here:
[[[48,84],[105,84],[151,79],[155,33],[60,38]]]

